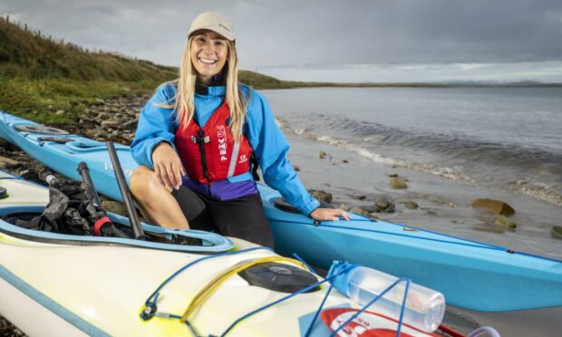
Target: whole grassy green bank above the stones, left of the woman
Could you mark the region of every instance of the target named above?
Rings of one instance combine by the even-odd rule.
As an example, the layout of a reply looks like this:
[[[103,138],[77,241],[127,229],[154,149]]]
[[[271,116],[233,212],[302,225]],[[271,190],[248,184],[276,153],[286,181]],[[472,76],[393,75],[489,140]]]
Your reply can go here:
[[[27,119],[72,123],[93,101],[150,92],[176,74],[173,67],[87,51],[0,18],[0,110]]]

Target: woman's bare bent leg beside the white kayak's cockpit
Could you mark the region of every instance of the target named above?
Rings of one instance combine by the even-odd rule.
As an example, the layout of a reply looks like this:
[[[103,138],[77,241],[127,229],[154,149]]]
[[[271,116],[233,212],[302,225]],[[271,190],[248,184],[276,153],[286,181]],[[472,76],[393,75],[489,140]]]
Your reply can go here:
[[[131,192],[144,217],[150,222],[170,228],[189,228],[170,188],[163,187],[150,168],[140,165],[131,174]]]

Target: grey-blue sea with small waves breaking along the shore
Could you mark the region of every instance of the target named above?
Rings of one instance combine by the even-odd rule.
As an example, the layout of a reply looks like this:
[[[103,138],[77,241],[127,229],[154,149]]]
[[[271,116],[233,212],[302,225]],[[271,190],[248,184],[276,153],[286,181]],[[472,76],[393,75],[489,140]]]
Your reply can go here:
[[[562,88],[265,91],[285,130],[562,207]]]

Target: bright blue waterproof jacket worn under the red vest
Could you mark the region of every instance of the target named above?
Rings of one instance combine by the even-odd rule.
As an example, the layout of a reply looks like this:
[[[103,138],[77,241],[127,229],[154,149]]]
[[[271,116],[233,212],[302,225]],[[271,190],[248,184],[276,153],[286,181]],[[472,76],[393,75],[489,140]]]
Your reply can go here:
[[[243,85],[241,89],[247,96],[250,89]],[[217,110],[224,100],[225,92],[224,86],[217,86],[208,87],[207,94],[195,94],[193,118],[200,127],[204,127],[213,112]],[[164,83],[140,111],[139,125],[131,144],[132,157],[140,165],[154,168],[152,151],[162,141],[170,143],[175,148],[177,114],[173,109],[159,106],[161,103],[173,104],[175,97],[176,86],[172,83]],[[251,92],[251,101],[247,107],[244,135],[254,150],[267,185],[278,190],[287,202],[305,215],[309,215],[320,206],[318,200],[306,191],[295,169],[286,158],[289,143],[279,130],[269,103],[264,96],[254,90]],[[252,179],[250,172],[228,178],[230,182]]]

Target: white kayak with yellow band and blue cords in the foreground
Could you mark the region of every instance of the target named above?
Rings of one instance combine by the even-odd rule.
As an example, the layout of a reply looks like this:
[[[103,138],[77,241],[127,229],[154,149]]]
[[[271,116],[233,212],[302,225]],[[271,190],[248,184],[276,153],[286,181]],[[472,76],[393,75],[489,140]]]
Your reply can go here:
[[[48,203],[48,189],[5,172],[0,172],[0,187],[7,191],[0,199],[0,218],[39,214]],[[149,233],[153,227],[143,226]],[[337,326],[323,321],[330,310],[359,309],[335,290],[326,297],[328,284],[293,295],[250,285],[238,273],[243,264],[276,264],[269,271],[279,277],[312,275],[311,286],[323,278],[243,240],[226,239],[232,247],[217,253],[68,236],[45,238],[0,220],[0,314],[29,335],[304,336],[310,330],[311,336],[325,336]],[[214,292],[201,292],[209,284],[216,285],[210,287]],[[325,298],[325,309],[317,314]],[[376,314],[370,319],[369,329],[390,332],[398,325]],[[355,326],[341,333],[353,334]],[[402,325],[402,335],[428,334]]]

